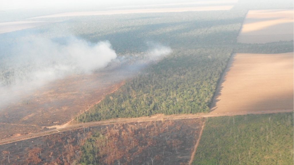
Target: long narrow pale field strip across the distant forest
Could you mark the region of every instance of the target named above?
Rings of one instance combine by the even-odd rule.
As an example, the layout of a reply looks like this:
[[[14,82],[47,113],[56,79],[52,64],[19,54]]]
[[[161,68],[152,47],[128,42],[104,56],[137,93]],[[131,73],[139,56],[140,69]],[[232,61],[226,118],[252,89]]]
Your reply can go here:
[[[155,8],[155,9],[107,10],[107,11],[60,13],[60,14],[39,16],[39,17],[33,17],[33,18],[54,18],[54,17],[67,17],[67,16],[98,16],[98,15],[133,14],[133,13],[165,13],[165,12],[184,12],[184,11],[213,11],[213,10],[230,10],[232,9],[232,7],[233,5],[195,6],[195,7],[158,8],[158,9]]]

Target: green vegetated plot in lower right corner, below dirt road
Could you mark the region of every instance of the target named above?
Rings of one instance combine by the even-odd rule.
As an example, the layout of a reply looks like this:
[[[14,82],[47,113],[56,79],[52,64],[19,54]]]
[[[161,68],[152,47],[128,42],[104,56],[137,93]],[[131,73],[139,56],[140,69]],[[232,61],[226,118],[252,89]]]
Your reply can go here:
[[[207,118],[193,164],[293,164],[293,112]]]

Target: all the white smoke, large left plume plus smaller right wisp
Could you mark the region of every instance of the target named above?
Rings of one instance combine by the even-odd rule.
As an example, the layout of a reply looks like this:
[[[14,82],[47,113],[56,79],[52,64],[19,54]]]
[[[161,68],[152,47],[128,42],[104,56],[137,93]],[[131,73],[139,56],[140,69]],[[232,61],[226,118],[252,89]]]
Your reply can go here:
[[[108,41],[89,43],[72,36],[20,38],[14,46],[7,48],[8,57],[0,61],[0,108],[51,81],[72,74],[91,74],[106,66],[111,72],[119,73],[113,80],[121,80],[136,75],[148,63],[161,60],[172,52],[171,48],[159,43],[147,45],[146,52],[117,57]]]

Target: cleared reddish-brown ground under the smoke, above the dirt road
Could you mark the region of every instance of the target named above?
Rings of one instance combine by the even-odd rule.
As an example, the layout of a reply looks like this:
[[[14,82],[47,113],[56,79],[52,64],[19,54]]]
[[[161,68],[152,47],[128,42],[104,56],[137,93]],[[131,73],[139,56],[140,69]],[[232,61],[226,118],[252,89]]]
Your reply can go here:
[[[123,83],[122,79],[112,79],[107,73],[75,75],[51,82],[32,95],[24,95],[1,109],[0,139],[68,122]]]

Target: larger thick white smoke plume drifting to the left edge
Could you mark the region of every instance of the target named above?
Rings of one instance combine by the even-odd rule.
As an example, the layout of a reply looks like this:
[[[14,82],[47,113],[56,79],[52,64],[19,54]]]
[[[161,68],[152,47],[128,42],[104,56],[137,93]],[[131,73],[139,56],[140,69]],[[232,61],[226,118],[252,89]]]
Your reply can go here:
[[[108,41],[93,44],[75,37],[22,38],[15,45],[11,57],[0,61],[0,107],[52,80],[106,67],[117,57]]]

